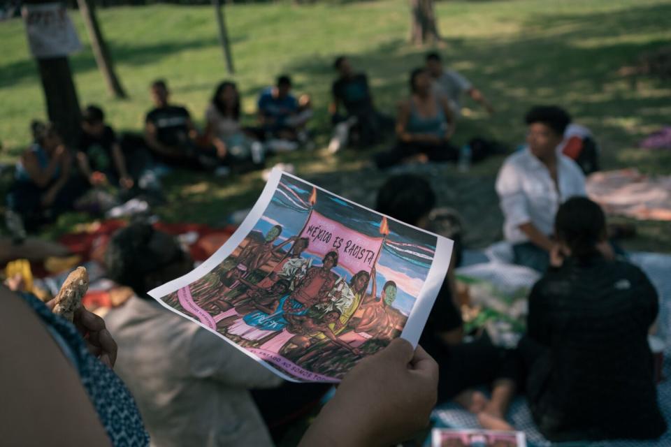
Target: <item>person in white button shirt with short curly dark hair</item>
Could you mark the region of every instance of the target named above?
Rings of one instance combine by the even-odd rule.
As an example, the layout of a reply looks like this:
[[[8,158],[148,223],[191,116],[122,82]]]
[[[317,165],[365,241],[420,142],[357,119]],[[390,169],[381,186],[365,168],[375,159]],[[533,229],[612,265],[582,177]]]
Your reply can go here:
[[[505,217],[503,233],[514,262],[544,272],[554,242],[554,217],[572,196],[585,196],[585,176],[561,154],[571,118],[556,106],[537,106],[526,115],[527,146],[509,156],[498,172],[496,192]]]

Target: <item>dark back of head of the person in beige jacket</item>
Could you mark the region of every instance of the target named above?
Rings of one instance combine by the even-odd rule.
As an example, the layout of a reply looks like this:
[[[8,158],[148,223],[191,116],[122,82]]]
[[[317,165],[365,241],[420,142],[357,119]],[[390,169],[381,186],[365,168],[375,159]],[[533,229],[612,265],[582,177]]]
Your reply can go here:
[[[192,268],[179,242],[148,223],[117,231],[105,252],[105,265],[110,279],[132,288],[140,298]]]

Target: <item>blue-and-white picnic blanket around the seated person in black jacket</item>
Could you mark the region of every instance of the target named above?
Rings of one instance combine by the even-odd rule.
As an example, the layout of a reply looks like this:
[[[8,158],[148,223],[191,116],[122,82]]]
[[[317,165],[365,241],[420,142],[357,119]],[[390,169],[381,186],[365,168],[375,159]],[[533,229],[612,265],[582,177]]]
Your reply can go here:
[[[508,247],[510,248],[510,247]],[[498,303],[498,312],[507,317],[516,315],[514,303],[519,300],[515,298],[516,294],[524,288],[531,288],[533,283],[537,280],[538,274],[527,271],[526,268],[521,268],[516,265],[507,263],[510,259],[505,244],[495,244],[489,247],[484,252],[467,253],[464,258],[466,260],[477,260],[480,263],[469,265],[465,268],[456,270],[457,277],[463,279],[470,279],[478,281],[482,284],[489,284],[483,286],[484,289],[489,290],[490,295],[487,300],[491,300],[492,296],[499,295],[502,298],[502,303]],[[628,255],[629,260],[638,265],[651,279],[652,283],[657,289],[660,297],[660,313],[659,313],[659,330],[658,336],[667,341],[664,351],[664,375],[669,377],[671,372],[671,345],[668,343],[669,335],[671,335],[671,255],[635,252]],[[478,292],[482,293],[482,292]],[[471,297],[472,298],[472,297]],[[479,299],[479,298],[478,298]],[[490,305],[491,306],[491,305]],[[483,305],[486,307],[486,304]],[[514,332],[514,331],[512,331]],[[658,401],[660,402],[661,411],[665,420],[671,427],[671,378],[659,383],[658,387]],[[661,439],[657,441],[601,441],[601,442],[573,442],[552,444],[547,439],[544,439],[542,434],[538,432],[531,418],[531,412],[528,409],[524,397],[517,397],[508,413],[510,423],[514,425],[516,430],[521,430],[526,433],[527,443],[533,447],[549,447],[549,446],[589,446],[589,447],[652,447],[652,446],[671,446],[671,432],[667,432]],[[452,402],[441,404],[433,411],[432,420],[437,427],[450,427],[456,429],[478,428],[477,418],[464,410],[461,406]],[[428,446],[429,444],[425,444]]]

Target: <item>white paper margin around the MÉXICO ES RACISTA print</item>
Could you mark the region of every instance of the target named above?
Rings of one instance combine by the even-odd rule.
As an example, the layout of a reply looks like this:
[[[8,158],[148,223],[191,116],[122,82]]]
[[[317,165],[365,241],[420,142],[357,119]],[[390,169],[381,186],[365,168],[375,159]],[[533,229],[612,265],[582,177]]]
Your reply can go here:
[[[235,346],[239,351],[245,353],[247,356],[250,356],[254,360],[257,360],[257,362],[260,362],[261,365],[264,365],[264,367],[270,369],[270,371],[279,375],[280,377],[282,377],[282,379],[292,382],[305,383],[305,381],[303,380],[294,379],[293,377],[284,374],[279,368],[270,366],[270,364],[266,362],[266,360],[263,360],[259,358],[259,356],[256,356],[254,353],[247,351],[247,349],[243,348],[243,346],[239,346],[231,339],[228,339],[226,336],[220,334],[217,331],[210,330],[210,328],[208,328],[207,325],[201,323],[201,321],[199,321],[197,318],[194,318],[194,316],[184,314],[178,311],[178,309],[175,309],[174,307],[166,304],[166,302],[161,300],[161,298],[163,298],[164,296],[170,295],[171,293],[178,291],[180,288],[186,287],[192,282],[201,279],[202,277],[205,276],[205,274],[211,272],[214,268],[217,267],[217,265],[222,263],[228,256],[230,256],[233,250],[235,250],[236,247],[238,247],[238,245],[240,245],[240,243],[243,242],[243,240],[245,240],[245,237],[247,237],[247,235],[250,233],[250,231],[252,231],[254,226],[257,225],[259,219],[261,219],[261,217],[263,216],[264,212],[268,208],[268,205],[270,204],[270,200],[273,199],[273,195],[275,194],[275,190],[277,189],[277,186],[280,183],[282,175],[286,175],[287,177],[291,177],[310,186],[314,186],[320,191],[324,191],[325,193],[329,193],[332,196],[339,198],[340,200],[345,200],[345,202],[351,203],[355,207],[359,207],[362,208],[363,210],[374,212],[375,214],[378,214],[380,216],[385,216],[384,214],[381,214],[375,210],[370,210],[370,208],[368,207],[359,205],[359,203],[354,203],[352,202],[352,200],[348,200],[347,198],[338,196],[337,194],[334,194],[331,191],[326,191],[326,189],[320,188],[319,186],[307,182],[304,179],[301,179],[300,177],[284,173],[279,168],[273,168],[273,171],[270,173],[270,177],[268,177],[268,182],[266,182],[266,186],[264,187],[264,191],[261,193],[261,196],[259,196],[257,203],[254,204],[254,207],[252,207],[250,213],[247,214],[247,217],[245,217],[243,223],[240,223],[240,226],[238,226],[236,232],[233,233],[233,235],[231,235],[231,237],[229,237],[229,239],[226,240],[226,242],[224,242],[222,247],[219,247],[219,249],[215,251],[215,253],[212,254],[212,256],[210,256],[201,265],[194,268],[194,270],[192,270],[191,272],[183,275],[182,277],[173,279],[172,281],[169,281],[166,284],[163,284],[162,286],[154,288],[151,291],[147,292],[147,294],[150,295],[150,297],[154,298],[154,300],[157,300],[161,305],[166,307],[166,309],[170,309],[172,312],[175,312],[175,314],[189,318],[189,320],[200,325],[202,328],[205,328],[209,332],[212,332],[212,334],[215,334],[220,338],[226,340],[226,342]],[[424,325],[426,324],[428,314],[431,312],[431,308],[433,307],[434,300],[432,300],[430,297],[431,295],[437,297],[438,291],[440,291],[440,287],[442,286],[442,282],[445,281],[445,275],[447,274],[447,269],[449,268],[449,261],[450,258],[452,258],[452,248],[454,247],[454,242],[452,242],[452,240],[447,239],[447,237],[442,237],[440,235],[430,233],[426,230],[422,230],[421,228],[407,225],[407,223],[398,221],[393,217],[389,216],[385,217],[387,217],[387,219],[390,219],[392,221],[401,223],[401,225],[409,226],[411,228],[414,228],[415,230],[421,231],[422,233],[427,233],[429,235],[436,237],[435,252],[433,255],[433,261],[431,262],[431,268],[428,270],[428,274],[426,274],[426,279],[424,280],[424,284],[421,286],[419,296],[417,296],[414,305],[410,310],[410,316],[408,316],[407,321],[405,322],[405,326],[403,327],[403,332],[401,333],[402,338],[410,342],[413,347],[417,347],[417,343],[419,342],[419,337],[421,336],[422,330],[424,330]],[[298,366],[300,367],[301,365]]]

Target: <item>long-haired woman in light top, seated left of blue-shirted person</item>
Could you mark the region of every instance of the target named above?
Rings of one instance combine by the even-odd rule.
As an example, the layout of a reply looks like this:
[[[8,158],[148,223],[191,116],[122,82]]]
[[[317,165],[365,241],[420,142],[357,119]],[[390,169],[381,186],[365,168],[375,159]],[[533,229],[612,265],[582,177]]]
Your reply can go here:
[[[217,154],[231,163],[264,160],[261,142],[253,140],[240,126],[240,92],[235,82],[221,82],[205,110],[205,135],[217,148]]]

